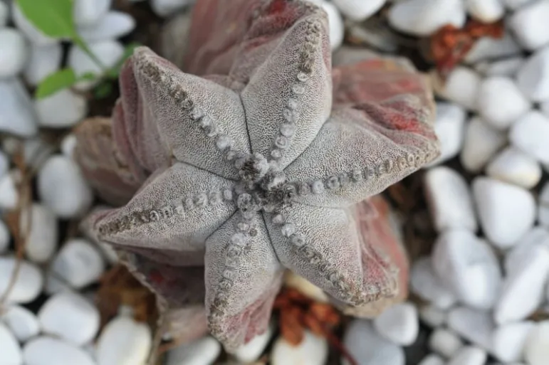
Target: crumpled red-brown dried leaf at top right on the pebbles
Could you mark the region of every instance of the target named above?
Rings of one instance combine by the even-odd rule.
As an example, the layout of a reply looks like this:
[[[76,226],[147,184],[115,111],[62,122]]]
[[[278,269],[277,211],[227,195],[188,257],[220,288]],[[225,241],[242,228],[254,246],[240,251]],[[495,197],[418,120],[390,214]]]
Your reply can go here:
[[[503,21],[481,23],[471,19],[463,28],[452,25],[440,28],[429,40],[431,57],[436,64],[436,69],[444,78],[465,58],[479,38],[501,38],[503,33]]]

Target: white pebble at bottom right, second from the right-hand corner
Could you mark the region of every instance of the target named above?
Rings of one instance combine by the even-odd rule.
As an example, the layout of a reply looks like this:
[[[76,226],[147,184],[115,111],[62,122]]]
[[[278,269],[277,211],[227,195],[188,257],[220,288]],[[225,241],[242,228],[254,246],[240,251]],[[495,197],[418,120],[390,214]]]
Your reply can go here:
[[[505,363],[521,361],[533,322],[514,322],[496,327],[493,331],[490,353]]]

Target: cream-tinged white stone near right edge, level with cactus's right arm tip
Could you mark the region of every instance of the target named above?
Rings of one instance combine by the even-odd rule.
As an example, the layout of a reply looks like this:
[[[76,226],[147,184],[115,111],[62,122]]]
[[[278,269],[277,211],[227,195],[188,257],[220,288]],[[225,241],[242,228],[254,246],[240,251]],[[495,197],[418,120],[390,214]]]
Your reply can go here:
[[[493,179],[531,189],[541,179],[541,165],[528,154],[516,147],[508,147],[500,152],[486,166],[486,174]]]

